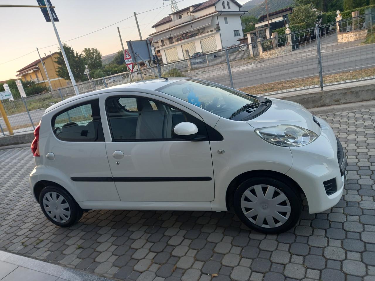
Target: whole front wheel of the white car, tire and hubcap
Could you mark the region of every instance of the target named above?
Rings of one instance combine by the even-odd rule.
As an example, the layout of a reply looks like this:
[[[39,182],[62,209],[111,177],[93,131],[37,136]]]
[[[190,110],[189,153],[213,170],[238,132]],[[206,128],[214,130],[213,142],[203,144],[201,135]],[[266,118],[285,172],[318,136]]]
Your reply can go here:
[[[291,229],[302,212],[302,199],[293,186],[273,178],[242,182],[234,193],[234,209],[246,226],[267,234]]]

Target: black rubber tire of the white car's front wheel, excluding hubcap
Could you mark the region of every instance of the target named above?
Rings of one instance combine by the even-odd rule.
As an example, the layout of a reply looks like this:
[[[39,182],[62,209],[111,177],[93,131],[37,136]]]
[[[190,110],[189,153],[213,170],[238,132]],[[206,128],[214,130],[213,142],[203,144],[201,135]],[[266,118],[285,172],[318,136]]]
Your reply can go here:
[[[282,201],[281,203],[277,204],[278,206],[282,206],[282,205],[285,205],[287,207],[290,206],[289,214],[287,214],[287,212],[278,211],[279,214],[281,214],[282,216],[285,216],[285,218],[288,217],[288,219],[283,224],[281,224],[282,223],[281,221],[278,221],[277,219],[274,219],[272,218],[272,216],[269,216],[269,215],[266,216],[266,218],[269,218],[269,219],[272,218],[273,222],[275,223],[275,227],[267,227],[267,225],[271,225],[271,224],[268,221],[266,221],[266,218],[264,218],[263,223],[261,223],[262,226],[257,225],[254,222],[252,222],[251,220],[256,222],[256,219],[258,218],[257,214],[251,218],[246,217],[244,211],[246,211],[247,214],[249,215],[250,214],[249,211],[252,211],[252,208],[247,208],[247,207],[243,208],[241,206],[241,200],[244,196],[244,201],[248,200],[249,204],[253,203],[252,200],[248,198],[245,199],[246,196],[244,195],[244,193],[249,188],[252,188],[255,185],[262,185],[262,186],[267,185],[267,186],[275,187],[276,189],[284,193],[284,195],[287,197],[288,200]],[[262,192],[264,194],[266,194],[265,189],[267,189],[267,187],[263,186]],[[255,188],[252,188],[251,192],[255,193]],[[277,190],[275,190],[274,196],[278,196],[278,195],[281,195],[281,194]],[[255,213],[260,211],[260,212],[263,212],[262,214],[264,215],[265,212],[267,212],[265,211],[268,208],[267,202],[270,202],[270,201],[266,201],[267,199],[263,199],[263,200],[265,200],[264,201],[265,204],[261,204],[261,208],[257,207],[257,210],[254,210]],[[257,202],[257,200],[255,200],[254,202]],[[262,201],[260,200],[259,203],[261,202]],[[292,184],[286,184],[285,182],[280,181],[279,179],[276,179],[276,178],[259,176],[259,177],[247,179],[246,181],[242,182],[238,186],[237,190],[234,193],[233,206],[234,206],[237,216],[249,228],[254,229],[258,232],[266,233],[266,234],[278,234],[278,233],[286,232],[287,230],[291,229],[299,221],[299,218],[302,212],[302,199],[301,199],[300,194],[297,192],[296,188]],[[269,208],[269,211],[271,211],[271,208],[272,207]],[[261,221],[261,217],[260,217],[260,221]],[[281,225],[278,226],[278,224],[281,224]],[[263,227],[263,226],[266,226],[266,227]]]

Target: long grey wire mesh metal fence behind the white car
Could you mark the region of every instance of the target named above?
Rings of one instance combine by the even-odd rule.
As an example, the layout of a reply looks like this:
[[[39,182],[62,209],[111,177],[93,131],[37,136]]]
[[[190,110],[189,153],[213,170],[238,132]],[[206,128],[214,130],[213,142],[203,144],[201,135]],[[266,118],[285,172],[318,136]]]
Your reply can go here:
[[[86,93],[151,76],[204,79],[270,95],[375,78],[375,14],[343,19],[140,71],[78,84]],[[48,106],[75,95],[72,86],[3,101],[14,133],[32,131]],[[3,118],[0,134],[7,135]]]

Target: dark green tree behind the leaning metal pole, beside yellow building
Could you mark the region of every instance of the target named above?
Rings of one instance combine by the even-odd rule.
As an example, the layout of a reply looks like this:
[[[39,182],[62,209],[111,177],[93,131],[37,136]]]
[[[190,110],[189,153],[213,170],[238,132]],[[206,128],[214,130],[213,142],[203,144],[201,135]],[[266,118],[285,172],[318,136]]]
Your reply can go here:
[[[72,70],[73,76],[75,79],[82,81],[85,80],[84,72],[85,72],[85,61],[83,58],[83,54],[78,54],[75,52],[71,46],[66,44],[63,45],[66,57],[68,58],[69,66]],[[57,75],[58,77],[64,78],[66,80],[70,80],[68,69],[66,68],[64,58],[62,56],[61,50],[58,53],[59,56],[56,58],[57,63]]]

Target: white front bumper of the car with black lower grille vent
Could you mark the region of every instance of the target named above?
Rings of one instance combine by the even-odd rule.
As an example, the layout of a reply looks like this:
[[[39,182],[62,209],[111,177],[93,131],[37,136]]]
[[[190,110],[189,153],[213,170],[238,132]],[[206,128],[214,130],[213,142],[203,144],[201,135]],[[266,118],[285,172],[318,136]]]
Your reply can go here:
[[[344,191],[346,157],[326,121],[317,118],[321,134],[312,143],[291,148],[293,165],[286,173],[305,193],[311,214],[335,206]]]

